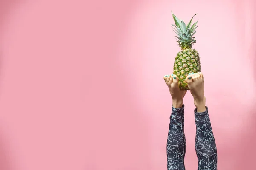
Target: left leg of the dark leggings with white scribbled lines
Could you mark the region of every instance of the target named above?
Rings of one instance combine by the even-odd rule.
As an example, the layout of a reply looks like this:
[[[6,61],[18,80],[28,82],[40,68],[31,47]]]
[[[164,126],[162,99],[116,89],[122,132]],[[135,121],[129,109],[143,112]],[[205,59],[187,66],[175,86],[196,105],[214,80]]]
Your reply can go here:
[[[167,140],[167,169],[185,170],[185,152],[184,105],[181,105],[180,108],[174,108],[172,106]]]

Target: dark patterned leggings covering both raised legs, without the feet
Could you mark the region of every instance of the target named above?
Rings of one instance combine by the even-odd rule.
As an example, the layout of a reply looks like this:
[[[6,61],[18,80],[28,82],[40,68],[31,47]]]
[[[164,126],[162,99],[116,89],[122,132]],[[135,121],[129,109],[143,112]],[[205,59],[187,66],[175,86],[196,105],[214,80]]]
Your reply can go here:
[[[206,111],[198,113],[195,109],[196,139],[195,150],[198,156],[198,170],[217,170],[217,149],[212,127]],[[184,105],[173,108],[170,116],[167,139],[167,170],[185,170],[184,156],[186,138],[184,134]]]

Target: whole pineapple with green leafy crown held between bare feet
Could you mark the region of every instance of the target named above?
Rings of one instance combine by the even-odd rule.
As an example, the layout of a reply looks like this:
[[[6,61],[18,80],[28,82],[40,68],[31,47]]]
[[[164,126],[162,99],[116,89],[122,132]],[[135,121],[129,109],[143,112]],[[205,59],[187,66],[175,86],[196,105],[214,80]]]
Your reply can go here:
[[[197,14],[194,15],[194,17]],[[173,66],[173,74],[179,77],[180,90],[189,90],[186,82],[186,77],[189,73],[201,72],[200,57],[198,51],[192,49],[192,45],[195,44],[195,37],[192,37],[198,27],[195,22],[191,25],[192,19],[186,25],[183,20],[179,20],[174,14],[172,14],[175,25],[172,24],[173,30],[177,34],[177,42],[181,51],[177,53]]]

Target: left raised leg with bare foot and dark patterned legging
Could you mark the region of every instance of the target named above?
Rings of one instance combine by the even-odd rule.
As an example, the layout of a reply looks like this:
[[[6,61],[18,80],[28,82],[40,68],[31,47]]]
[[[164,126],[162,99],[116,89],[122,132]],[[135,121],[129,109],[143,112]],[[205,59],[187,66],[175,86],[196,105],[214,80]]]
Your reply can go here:
[[[186,139],[184,135],[184,105],[186,91],[181,91],[176,75],[166,75],[164,80],[172,96],[172,114],[167,139],[167,170],[185,170],[184,156]]]

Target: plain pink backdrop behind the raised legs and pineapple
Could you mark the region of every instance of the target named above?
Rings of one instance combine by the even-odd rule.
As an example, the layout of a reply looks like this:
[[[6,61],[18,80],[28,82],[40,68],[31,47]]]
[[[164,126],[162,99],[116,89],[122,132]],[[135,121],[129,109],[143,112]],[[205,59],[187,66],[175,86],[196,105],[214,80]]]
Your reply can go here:
[[[255,169],[253,0],[1,0],[0,170],[166,170],[179,51],[171,10],[197,44],[219,170]],[[186,170],[197,169],[185,97]]]

